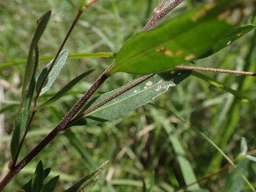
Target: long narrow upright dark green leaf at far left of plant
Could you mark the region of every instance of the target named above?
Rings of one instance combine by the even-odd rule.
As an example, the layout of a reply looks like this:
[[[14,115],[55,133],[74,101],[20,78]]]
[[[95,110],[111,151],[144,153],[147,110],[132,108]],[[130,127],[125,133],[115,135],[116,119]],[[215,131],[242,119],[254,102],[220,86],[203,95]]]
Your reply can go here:
[[[33,40],[30,45],[28,60],[26,64],[25,75],[22,85],[22,100],[19,112],[13,123],[13,133],[11,140],[11,154],[12,159],[15,159],[18,148],[20,145],[20,139],[25,131],[25,127],[28,121],[29,109],[31,100],[35,90],[35,74],[38,66],[38,47],[37,42],[41,38],[46,25],[50,19],[51,11],[45,13],[38,21],[37,28],[34,34]]]

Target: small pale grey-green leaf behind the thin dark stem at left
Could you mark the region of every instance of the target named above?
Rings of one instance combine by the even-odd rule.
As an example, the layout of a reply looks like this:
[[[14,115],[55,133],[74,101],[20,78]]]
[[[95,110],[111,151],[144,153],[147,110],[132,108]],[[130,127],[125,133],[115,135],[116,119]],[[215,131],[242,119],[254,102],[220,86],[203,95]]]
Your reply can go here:
[[[44,94],[46,91],[48,91],[50,89],[50,87],[52,86],[52,84],[55,82],[55,80],[57,79],[57,77],[59,76],[60,70],[62,69],[62,67],[65,65],[66,60],[68,57],[68,50],[63,50],[60,54],[59,57],[57,58],[54,67],[52,68],[49,76],[47,77],[47,81],[43,86],[43,89],[40,93],[40,95]],[[48,63],[48,65],[42,70],[41,74],[38,76],[37,78],[37,82],[36,82],[36,92],[38,92],[40,85],[43,82],[43,79],[45,78],[48,69],[50,68],[50,66],[52,65],[53,60]]]

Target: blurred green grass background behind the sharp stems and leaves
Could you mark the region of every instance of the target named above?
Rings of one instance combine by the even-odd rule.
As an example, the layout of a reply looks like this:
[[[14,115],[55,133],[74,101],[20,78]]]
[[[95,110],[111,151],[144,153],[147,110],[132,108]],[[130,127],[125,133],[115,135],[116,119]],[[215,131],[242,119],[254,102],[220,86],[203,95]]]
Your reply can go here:
[[[165,19],[182,14],[202,2],[186,0]],[[0,1],[1,63],[26,59],[36,20],[50,9],[53,15],[39,41],[39,54],[54,55],[76,15],[77,4],[75,0]],[[69,53],[117,52],[126,39],[141,30],[157,5],[158,0],[101,0],[82,15],[65,49]],[[253,17],[249,17],[243,24],[252,22]],[[196,65],[255,72],[255,42],[255,31],[252,31],[221,52],[196,61]],[[61,100],[37,113],[21,157],[58,124],[111,60],[90,58],[67,61],[58,81],[41,101],[47,100],[82,72],[95,71]],[[39,63],[39,69],[45,65]],[[18,110],[24,70],[25,65],[0,70],[0,89],[4,93],[0,95],[0,172],[3,173],[11,157],[10,133]],[[204,74],[256,101],[255,77]],[[96,95],[122,86],[135,77],[138,76],[118,73],[103,84]],[[52,167],[52,177],[60,174],[57,191],[68,188],[107,160],[110,163],[93,191],[142,191],[143,180],[148,187],[154,183],[154,191],[177,190],[193,178],[191,171],[181,167],[191,166],[196,178],[201,179],[228,163],[195,127],[229,158],[235,159],[241,150],[242,137],[247,141],[248,150],[255,150],[255,122],[255,109],[218,87],[190,76],[150,104],[116,121],[72,127],[72,132],[60,134],[15,177],[6,191],[23,186],[33,175],[40,159],[44,167]],[[255,188],[256,163],[239,162],[242,162],[239,165],[242,172]],[[250,191],[247,185],[243,187],[243,180],[233,171],[229,168],[203,181],[200,186],[210,191]]]

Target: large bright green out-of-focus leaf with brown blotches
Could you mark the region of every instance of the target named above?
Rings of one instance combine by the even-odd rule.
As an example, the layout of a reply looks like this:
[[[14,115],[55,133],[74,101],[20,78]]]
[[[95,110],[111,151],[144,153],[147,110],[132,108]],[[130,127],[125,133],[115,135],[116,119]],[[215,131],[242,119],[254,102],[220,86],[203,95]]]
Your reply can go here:
[[[218,2],[206,3],[158,28],[135,35],[118,52],[110,74],[158,73],[203,57],[238,22],[231,17],[236,1]]]

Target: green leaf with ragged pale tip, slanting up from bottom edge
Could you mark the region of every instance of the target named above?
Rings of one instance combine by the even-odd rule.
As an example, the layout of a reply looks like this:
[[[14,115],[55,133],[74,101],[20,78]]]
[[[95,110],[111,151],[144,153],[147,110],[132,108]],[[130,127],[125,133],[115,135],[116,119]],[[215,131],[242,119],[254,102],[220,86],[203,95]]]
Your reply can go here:
[[[93,172],[90,175],[87,175],[82,180],[80,180],[79,182],[77,182],[75,185],[65,190],[64,192],[76,192],[78,190],[79,192],[90,191],[95,185],[95,183],[100,179],[100,175],[105,170],[107,163],[108,161],[103,163],[97,171]]]

